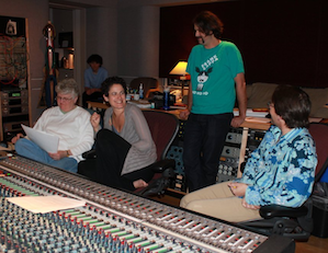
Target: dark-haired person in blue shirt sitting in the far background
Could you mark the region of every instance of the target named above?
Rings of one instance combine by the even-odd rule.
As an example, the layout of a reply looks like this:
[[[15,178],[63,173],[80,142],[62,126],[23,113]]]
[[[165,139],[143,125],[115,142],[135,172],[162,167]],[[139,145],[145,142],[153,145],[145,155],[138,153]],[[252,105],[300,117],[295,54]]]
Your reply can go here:
[[[82,94],[82,106],[87,108],[87,101],[102,99],[101,83],[109,77],[108,70],[102,66],[100,55],[91,55],[87,60],[89,68],[84,71],[84,92]]]

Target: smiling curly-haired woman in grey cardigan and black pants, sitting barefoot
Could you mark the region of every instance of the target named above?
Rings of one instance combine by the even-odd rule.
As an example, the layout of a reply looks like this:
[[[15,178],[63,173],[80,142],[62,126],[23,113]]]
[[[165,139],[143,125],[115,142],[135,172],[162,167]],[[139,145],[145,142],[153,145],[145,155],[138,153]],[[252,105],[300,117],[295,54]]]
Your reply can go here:
[[[97,159],[82,161],[79,173],[93,171],[98,183],[134,191],[148,186],[154,171],[149,168],[157,159],[148,124],[139,107],[126,103],[126,83],[118,77],[108,78],[102,83],[104,101],[109,107],[104,113],[101,129],[100,115],[91,116],[95,138]]]

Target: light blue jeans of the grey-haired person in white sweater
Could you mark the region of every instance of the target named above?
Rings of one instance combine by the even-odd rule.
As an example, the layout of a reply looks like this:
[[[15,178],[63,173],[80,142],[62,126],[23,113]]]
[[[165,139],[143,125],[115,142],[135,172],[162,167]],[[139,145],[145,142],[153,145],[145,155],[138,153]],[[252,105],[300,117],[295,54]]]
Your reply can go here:
[[[46,151],[26,138],[21,138],[15,142],[15,151],[22,157],[30,158],[31,160],[42,162],[50,166],[60,168],[70,172],[78,171],[78,161],[73,158],[54,160]]]

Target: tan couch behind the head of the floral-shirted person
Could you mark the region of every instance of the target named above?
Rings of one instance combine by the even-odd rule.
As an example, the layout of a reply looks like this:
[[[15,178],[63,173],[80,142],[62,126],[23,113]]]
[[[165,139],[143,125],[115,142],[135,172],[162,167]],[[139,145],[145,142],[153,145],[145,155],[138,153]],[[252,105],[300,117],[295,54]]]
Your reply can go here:
[[[278,87],[275,83],[256,82],[246,87],[247,107],[267,108],[271,101],[272,93]],[[310,117],[328,118],[328,88],[302,88],[309,96],[312,102]]]

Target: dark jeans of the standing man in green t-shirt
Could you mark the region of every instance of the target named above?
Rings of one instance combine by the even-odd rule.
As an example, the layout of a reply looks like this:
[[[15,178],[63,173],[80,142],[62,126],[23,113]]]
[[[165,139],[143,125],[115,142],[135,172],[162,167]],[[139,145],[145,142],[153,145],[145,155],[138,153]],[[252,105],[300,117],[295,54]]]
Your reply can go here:
[[[184,126],[183,165],[190,192],[216,183],[231,113],[190,114]]]

